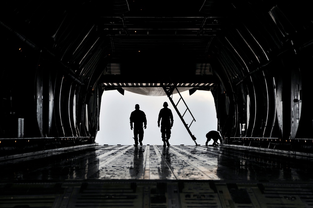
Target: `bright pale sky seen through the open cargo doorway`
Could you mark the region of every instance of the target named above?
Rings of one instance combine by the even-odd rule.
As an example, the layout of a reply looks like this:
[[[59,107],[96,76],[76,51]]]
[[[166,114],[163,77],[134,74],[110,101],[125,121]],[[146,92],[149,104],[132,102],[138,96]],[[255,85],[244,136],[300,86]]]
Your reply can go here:
[[[189,95],[187,90],[180,94],[196,120],[191,124],[190,131],[197,138],[198,145],[205,145],[205,134],[211,130],[217,130],[216,110],[212,93],[197,90],[194,94]],[[177,104],[179,94],[174,94],[172,99]],[[103,93],[100,109],[100,131],[97,133],[96,143],[99,145],[133,145],[134,134],[130,127],[129,117],[131,112],[135,110],[135,105],[139,104],[140,110],[145,112],[147,118],[143,145],[163,145],[161,129],[157,126],[157,119],[164,102],[168,103],[168,108],[172,110],[174,119],[169,143],[171,145],[195,145],[167,96],[146,96],[126,90],[124,95],[117,92],[117,90]],[[182,100],[177,108],[181,114],[185,112],[186,107]],[[192,121],[188,111],[183,118],[188,125]],[[213,140],[208,144],[211,145],[212,143]]]

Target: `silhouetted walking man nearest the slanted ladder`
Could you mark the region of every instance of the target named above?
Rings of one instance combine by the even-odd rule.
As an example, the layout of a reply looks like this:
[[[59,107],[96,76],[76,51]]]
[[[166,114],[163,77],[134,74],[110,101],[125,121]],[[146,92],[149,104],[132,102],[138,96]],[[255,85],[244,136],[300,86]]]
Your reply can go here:
[[[163,146],[170,146],[168,140],[171,137],[171,129],[173,126],[173,114],[171,109],[167,108],[167,102],[164,102],[163,107],[159,113],[159,119],[157,120],[157,125],[160,127],[161,120],[161,133],[162,133],[162,141]],[[166,143],[165,143],[166,142]]]

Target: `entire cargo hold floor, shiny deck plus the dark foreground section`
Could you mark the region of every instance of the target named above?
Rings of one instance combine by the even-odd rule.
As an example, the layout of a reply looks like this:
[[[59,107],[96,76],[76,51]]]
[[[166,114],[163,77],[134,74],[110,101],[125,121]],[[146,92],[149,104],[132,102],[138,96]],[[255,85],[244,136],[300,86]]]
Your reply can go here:
[[[312,167],[232,146],[84,147],[1,161],[0,207],[313,207]]]

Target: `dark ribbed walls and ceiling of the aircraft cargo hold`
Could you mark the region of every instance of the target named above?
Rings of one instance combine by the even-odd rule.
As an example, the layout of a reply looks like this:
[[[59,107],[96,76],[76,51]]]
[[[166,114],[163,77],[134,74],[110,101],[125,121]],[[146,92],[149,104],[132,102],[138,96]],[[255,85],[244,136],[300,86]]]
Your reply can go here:
[[[306,4],[3,3],[1,148],[18,149],[10,138],[33,138],[23,144],[29,150],[93,143],[106,90],[156,96],[160,84],[177,84],[212,92],[225,144],[269,148],[271,140],[310,151],[313,23]]]

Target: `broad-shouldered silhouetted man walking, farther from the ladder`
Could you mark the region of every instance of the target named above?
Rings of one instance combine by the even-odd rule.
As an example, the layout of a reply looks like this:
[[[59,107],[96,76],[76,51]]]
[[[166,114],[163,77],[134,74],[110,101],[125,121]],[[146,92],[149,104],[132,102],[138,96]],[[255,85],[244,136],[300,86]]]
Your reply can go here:
[[[146,114],[139,110],[139,105],[135,105],[135,109],[131,112],[130,123],[131,123],[131,130],[133,130],[133,123],[134,123],[134,140],[135,140],[135,147],[138,146],[138,136],[139,136],[139,143],[142,146],[143,140],[143,128],[142,123],[144,124],[144,128],[147,128],[147,119]]]

